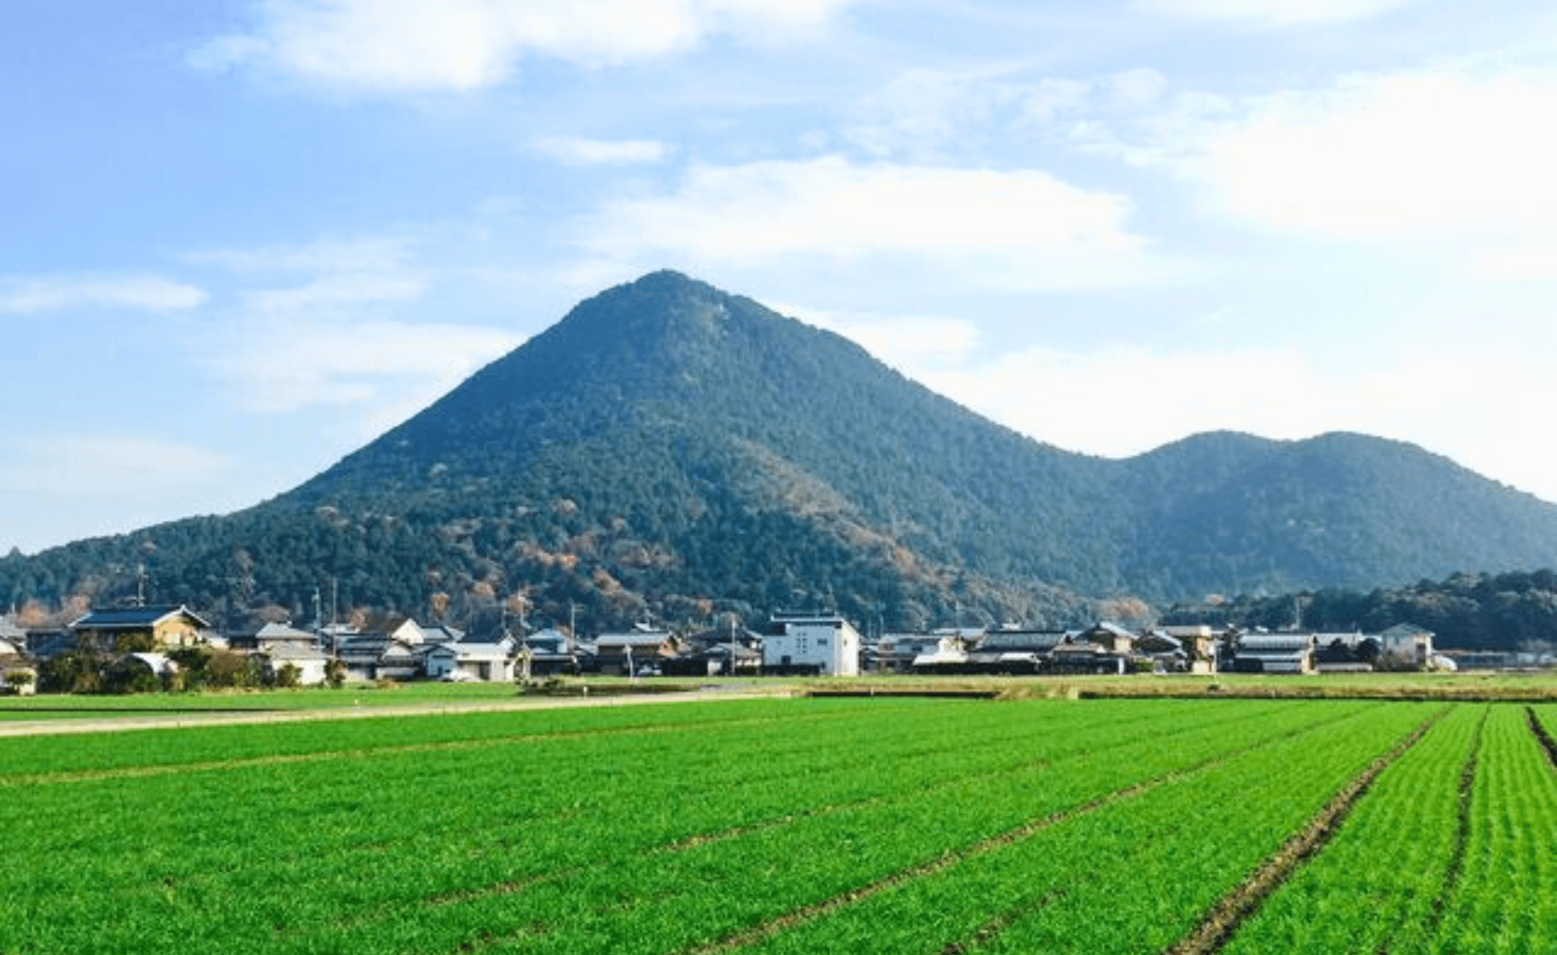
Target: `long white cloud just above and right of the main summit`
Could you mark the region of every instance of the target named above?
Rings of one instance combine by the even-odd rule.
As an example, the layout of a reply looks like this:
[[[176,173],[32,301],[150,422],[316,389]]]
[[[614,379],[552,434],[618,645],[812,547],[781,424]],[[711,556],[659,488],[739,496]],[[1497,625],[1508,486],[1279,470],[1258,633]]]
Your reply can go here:
[[[606,203],[581,245],[615,260],[886,259],[981,284],[1079,288],[1148,280],[1130,201],[1037,170],[856,165],[841,157],[693,167],[673,195]],[[1155,266],[1160,273],[1162,266]]]

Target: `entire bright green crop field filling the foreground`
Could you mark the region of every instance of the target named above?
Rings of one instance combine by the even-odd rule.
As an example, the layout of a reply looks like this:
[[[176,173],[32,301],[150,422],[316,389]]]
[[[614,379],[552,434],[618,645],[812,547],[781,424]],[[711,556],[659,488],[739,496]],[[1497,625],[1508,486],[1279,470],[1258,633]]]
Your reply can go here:
[[[881,696],[6,738],[0,952],[1548,952],[1552,731]]]

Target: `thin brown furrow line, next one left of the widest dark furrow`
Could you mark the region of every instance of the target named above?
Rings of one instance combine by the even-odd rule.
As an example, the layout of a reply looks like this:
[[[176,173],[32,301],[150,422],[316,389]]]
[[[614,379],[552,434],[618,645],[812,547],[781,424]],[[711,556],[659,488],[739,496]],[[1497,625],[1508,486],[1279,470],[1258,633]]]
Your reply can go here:
[[[850,890],[847,893],[841,893],[841,894],[833,896],[830,899],[822,899],[821,902],[813,902],[811,905],[803,905],[803,907],[796,908],[793,911],[783,913],[783,914],[780,914],[777,918],[772,918],[772,919],[768,919],[768,921],[760,922],[757,925],[752,925],[752,927],[749,927],[749,929],[746,929],[743,932],[736,932],[733,935],[729,935],[729,936],[726,936],[722,939],[718,939],[718,941],[713,941],[713,943],[708,943],[708,944],[704,944],[704,946],[696,946],[696,947],[687,949],[685,955],[729,955],[730,952],[735,952],[735,950],[744,949],[747,946],[754,946],[754,944],[768,941],[769,938],[782,935],[783,932],[788,932],[788,930],[796,929],[799,925],[803,925],[807,922],[811,922],[811,921],[816,921],[819,918],[824,918],[824,916],[827,916],[827,914],[830,914],[833,911],[838,911],[841,908],[845,908],[849,905],[856,905],[859,902],[864,902],[866,899],[878,896],[878,894],[881,894],[884,891],[891,891],[894,888],[898,888],[902,885],[909,885],[909,883],[919,882],[922,879],[930,879],[930,877],[937,876],[937,874],[940,874],[940,872],[944,872],[947,869],[951,869],[953,866],[956,866],[956,865],[959,865],[959,863],[962,863],[965,860],[976,858],[979,855],[987,855],[990,852],[995,852],[995,851],[1003,849],[1006,846],[1010,846],[1014,843],[1020,843],[1023,840],[1032,838],[1034,835],[1039,835],[1045,829],[1053,829],[1054,826],[1060,826],[1060,824],[1068,823],[1071,819],[1076,819],[1076,818],[1095,813],[1095,812],[1098,812],[1101,809],[1105,809],[1109,805],[1113,805],[1116,802],[1123,802],[1126,799],[1133,799],[1137,796],[1143,796],[1143,795],[1146,795],[1146,793],[1149,793],[1149,791],[1152,791],[1155,788],[1160,788],[1163,785],[1169,785],[1172,782],[1179,782],[1182,779],[1188,779],[1188,777],[1196,776],[1199,773],[1205,773],[1207,770],[1211,770],[1213,766],[1218,766],[1218,765],[1225,763],[1228,760],[1238,759],[1239,756],[1244,756],[1244,754],[1252,752],[1255,749],[1261,749],[1264,746],[1271,746],[1272,743],[1275,743],[1278,740],[1297,737],[1297,735],[1302,735],[1305,732],[1313,732],[1319,726],[1323,726],[1323,724],[1328,724],[1328,723],[1333,723],[1333,721],[1339,721],[1339,720],[1344,720],[1344,718],[1350,718],[1353,715],[1355,714],[1345,714],[1345,715],[1336,717],[1333,720],[1322,720],[1319,723],[1309,723],[1309,724],[1305,724],[1302,728],[1297,728],[1297,729],[1292,729],[1292,731],[1288,731],[1288,732],[1277,734],[1274,737],[1267,737],[1267,738],[1258,740],[1258,742],[1250,743],[1247,746],[1239,746],[1236,749],[1228,749],[1225,752],[1218,752],[1214,756],[1202,759],[1202,760],[1199,760],[1196,763],[1191,763],[1188,766],[1183,766],[1183,768],[1179,768],[1179,770],[1172,770],[1169,773],[1163,773],[1163,774],[1154,776],[1151,779],[1144,779],[1141,782],[1127,785],[1124,788],[1113,790],[1110,793],[1105,793],[1102,796],[1090,799],[1087,802],[1081,802],[1077,805],[1071,805],[1068,809],[1062,809],[1062,810],[1048,813],[1048,815],[1040,816],[1037,819],[1029,819],[1028,823],[1025,823],[1021,826],[1017,826],[1015,829],[1007,829],[1006,832],[1001,832],[998,835],[992,835],[992,837],[989,837],[986,840],[979,840],[976,843],[972,843],[972,844],[967,844],[967,846],[961,846],[961,848],[954,848],[954,849],[947,849],[945,852],[942,852],[939,857],[936,857],[933,860],[928,860],[928,862],[923,862],[920,865],[909,866],[909,868],[905,868],[905,869],[898,869],[897,872],[891,872],[887,876],[883,876],[881,879],[877,879],[875,882],[870,882],[870,883],[863,885],[859,888],[853,888],[853,890]],[[1422,732],[1425,732],[1425,729],[1422,729]],[[1043,904],[1051,904],[1053,900],[1054,900],[1054,897],[1048,897],[1046,902],[1043,902]],[[1042,908],[1042,905],[1034,904],[1034,910],[1037,910],[1037,908]],[[1025,910],[1026,910],[1026,907],[1023,907],[1023,910],[1020,910],[1020,911],[1009,911],[1009,913],[1003,913],[1001,916],[996,916],[995,919],[992,919],[989,924],[986,924],[979,930],[981,936],[984,936],[986,939],[987,938],[993,938],[995,935],[998,935],[1000,929],[1006,922],[1020,918],[1025,913]],[[964,944],[967,944],[967,943],[964,943]]]

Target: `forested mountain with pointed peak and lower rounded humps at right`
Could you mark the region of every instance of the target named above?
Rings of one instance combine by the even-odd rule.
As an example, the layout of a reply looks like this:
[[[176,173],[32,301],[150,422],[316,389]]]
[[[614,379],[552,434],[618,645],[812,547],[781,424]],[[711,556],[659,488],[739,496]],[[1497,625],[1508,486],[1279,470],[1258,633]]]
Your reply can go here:
[[[995,425],[856,344],[676,273],[604,291],[248,511],[0,561],[0,595],[609,626],[833,604],[1073,623],[1132,597],[1557,562],[1557,506],[1422,449],[1200,435],[1127,461]],[[1115,600],[1101,608],[1099,600]],[[517,603],[517,601],[511,601]],[[571,604],[571,606],[570,606]]]

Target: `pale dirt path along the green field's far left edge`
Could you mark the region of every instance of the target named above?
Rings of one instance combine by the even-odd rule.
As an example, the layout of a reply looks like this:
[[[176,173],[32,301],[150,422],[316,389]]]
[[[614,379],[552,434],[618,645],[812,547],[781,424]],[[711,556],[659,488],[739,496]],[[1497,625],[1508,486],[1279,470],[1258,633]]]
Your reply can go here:
[[[120,732],[126,729],[177,729],[184,726],[235,726],[244,723],[305,723],[322,720],[367,720],[375,717],[427,717],[489,714],[529,709],[571,709],[598,706],[645,706],[651,703],[707,703],[712,700],[757,700],[772,692],[747,689],[708,689],[682,693],[623,693],[606,696],[515,696],[470,703],[411,703],[403,706],[338,706],[308,710],[255,710],[251,714],[184,710],[179,714],[125,714],[118,717],[11,720],[0,721],[0,737],[67,735]]]

